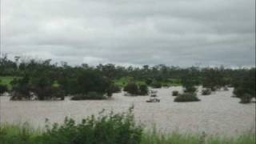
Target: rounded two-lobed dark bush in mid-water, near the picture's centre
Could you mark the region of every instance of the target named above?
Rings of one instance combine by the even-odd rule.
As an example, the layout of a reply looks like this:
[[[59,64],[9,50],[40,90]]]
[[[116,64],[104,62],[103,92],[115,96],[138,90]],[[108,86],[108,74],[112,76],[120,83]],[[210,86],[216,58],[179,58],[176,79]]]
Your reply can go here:
[[[149,94],[149,89],[146,84],[137,85],[135,82],[129,82],[125,87],[124,91],[131,95],[147,95]]]

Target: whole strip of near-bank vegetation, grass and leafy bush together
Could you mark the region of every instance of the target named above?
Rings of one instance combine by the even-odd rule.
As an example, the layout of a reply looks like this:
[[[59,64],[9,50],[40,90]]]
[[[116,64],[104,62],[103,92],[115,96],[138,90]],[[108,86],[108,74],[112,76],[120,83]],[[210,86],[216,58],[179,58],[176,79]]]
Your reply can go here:
[[[34,129],[28,123],[0,126],[1,144],[254,144],[255,133],[233,138],[206,134],[161,134],[156,129],[146,131],[134,121],[133,107],[126,113],[94,115],[77,123],[65,118],[63,124]]]

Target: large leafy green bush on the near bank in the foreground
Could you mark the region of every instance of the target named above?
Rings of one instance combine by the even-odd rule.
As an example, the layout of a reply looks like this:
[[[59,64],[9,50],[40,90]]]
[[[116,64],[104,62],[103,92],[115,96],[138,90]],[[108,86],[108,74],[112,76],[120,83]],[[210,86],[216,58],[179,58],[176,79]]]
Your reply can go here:
[[[142,139],[142,126],[135,124],[134,115],[128,113],[94,115],[76,123],[72,118],[65,118],[64,124],[54,124],[52,128],[38,138],[42,143],[87,143],[87,144],[138,144]]]

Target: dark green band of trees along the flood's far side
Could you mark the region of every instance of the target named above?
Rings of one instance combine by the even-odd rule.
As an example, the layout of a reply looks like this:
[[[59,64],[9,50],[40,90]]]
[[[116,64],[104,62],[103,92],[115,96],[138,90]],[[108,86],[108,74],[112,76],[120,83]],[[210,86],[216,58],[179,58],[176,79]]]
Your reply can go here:
[[[29,93],[33,91],[39,99],[46,99],[46,95],[62,98],[63,95],[86,95],[89,92],[111,96],[119,90],[114,81],[127,77],[157,88],[168,86],[167,83],[181,82],[185,92],[194,92],[194,86],[198,85],[210,90],[234,86],[234,94],[238,97],[245,94],[255,96],[255,68],[181,68],[166,65],[125,67],[114,64],[69,66],[67,62],[53,64],[50,59],[15,57],[10,60],[4,55],[0,59],[0,76],[16,77],[11,82],[13,91],[26,97],[30,97]]]

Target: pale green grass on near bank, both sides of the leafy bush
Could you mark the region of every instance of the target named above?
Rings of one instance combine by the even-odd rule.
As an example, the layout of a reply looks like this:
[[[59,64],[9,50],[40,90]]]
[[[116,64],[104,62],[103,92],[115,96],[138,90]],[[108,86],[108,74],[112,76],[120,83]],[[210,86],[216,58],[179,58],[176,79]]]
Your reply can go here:
[[[1,144],[36,144],[43,143],[42,136],[45,130],[34,129],[27,123],[0,126]],[[52,136],[54,137],[54,135]],[[55,139],[56,143],[62,139]],[[44,139],[44,142],[46,140]],[[58,141],[58,142],[57,142]],[[173,132],[171,134],[161,134],[157,130],[143,132],[140,144],[254,144],[255,134],[244,133],[237,137],[227,138],[218,135],[206,136],[205,134],[181,134]]]

